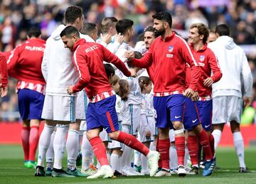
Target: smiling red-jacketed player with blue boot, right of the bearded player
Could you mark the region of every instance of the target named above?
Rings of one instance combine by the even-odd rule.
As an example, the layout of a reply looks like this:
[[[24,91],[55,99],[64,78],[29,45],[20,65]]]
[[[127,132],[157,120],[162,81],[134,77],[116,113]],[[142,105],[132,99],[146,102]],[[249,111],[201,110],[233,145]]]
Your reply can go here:
[[[188,130],[188,152],[191,156],[191,174],[198,174],[198,140],[206,154],[206,165],[203,175],[211,175],[215,167],[215,161],[211,161],[215,154],[214,139],[210,134],[211,114],[213,102],[211,99],[211,85],[220,80],[222,74],[218,67],[218,61],[213,51],[207,47],[209,31],[203,23],[193,23],[188,34],[188,43],[194,58],[198,62],[201,77],[198,82],[198,102],[186,99],[184,127]],[[186,76],[190,79],[190,67],[187,67]],[[213,75],[211,75],[213,72]],[[207,134],[206,134],[207,131]]]

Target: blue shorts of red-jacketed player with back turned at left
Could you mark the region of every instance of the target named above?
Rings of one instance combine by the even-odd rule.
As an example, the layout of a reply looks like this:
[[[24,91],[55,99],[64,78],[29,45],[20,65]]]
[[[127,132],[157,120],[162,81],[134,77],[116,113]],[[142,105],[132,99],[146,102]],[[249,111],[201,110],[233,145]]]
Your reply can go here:
[[[42,119],[43,101],[45,95],[34,90],[22,89],[18,90],[18,110],[21,119]]]

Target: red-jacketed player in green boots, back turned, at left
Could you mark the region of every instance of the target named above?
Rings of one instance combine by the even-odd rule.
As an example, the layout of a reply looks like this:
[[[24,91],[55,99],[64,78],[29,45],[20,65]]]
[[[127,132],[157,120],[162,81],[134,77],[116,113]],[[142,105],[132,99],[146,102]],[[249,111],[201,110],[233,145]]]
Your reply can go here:
[[[46,82],[41,72],[46,41],[39,28],[30,28],[28,40],[18,45],[7,61],[9,75],[18,80],[18,110],[23,120],[21,131],[24,166],[36,168],[35,155]]]

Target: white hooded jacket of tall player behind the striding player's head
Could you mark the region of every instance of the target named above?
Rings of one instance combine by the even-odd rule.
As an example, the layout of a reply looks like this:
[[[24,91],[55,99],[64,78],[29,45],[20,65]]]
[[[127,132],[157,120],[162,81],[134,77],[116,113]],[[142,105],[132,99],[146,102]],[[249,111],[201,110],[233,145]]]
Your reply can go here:
[[[42,72],[46,80],[46,94],[69,96],[67,88],[78,81],[78,72],[73,65],[72,55],[68,48],[64,48],[64,43],[60,38],[60,33],[65,28],[58,26],[51,36],[46,40],[46,50],[43,55]],[[80,35],[88,42],[89,36]]]

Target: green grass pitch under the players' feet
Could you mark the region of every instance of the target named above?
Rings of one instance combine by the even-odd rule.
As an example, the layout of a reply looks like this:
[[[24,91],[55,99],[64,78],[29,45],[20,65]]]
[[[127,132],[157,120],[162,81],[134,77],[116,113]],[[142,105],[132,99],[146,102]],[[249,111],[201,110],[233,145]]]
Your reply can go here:
[[[111,183],[111,184],[164,184],[164,183],[256,183],[256,148],[245,148],[245,162],[252,173],[238,173],[238,158],[234,148],[218,148],[217,166],[220,170],[215,171],[210,177],[188,175],[185,178],[178,178],[176,175],[162,178],[140,177],[119,177],[113,179],[86,178],[51,178],[35,177],[34,170],[23,167],[23,151],[21,146],[1,145],[0,146],[0,183]],[[63,159],[65,161],[66,159]],[[66,161],[63,163],[66,166]]]

